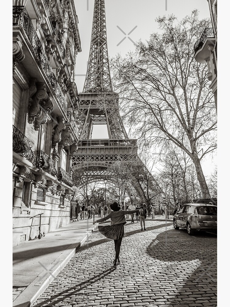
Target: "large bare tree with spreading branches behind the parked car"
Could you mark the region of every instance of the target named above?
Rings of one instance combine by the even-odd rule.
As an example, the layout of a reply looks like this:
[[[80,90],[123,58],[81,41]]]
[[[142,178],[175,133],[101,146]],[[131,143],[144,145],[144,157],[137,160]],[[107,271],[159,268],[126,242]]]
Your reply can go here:
[[[143,143],[168,139],[194,163],[204,198],[210,197],[201,159],[216,149],[216,109],[205,64],[194,60],[194,43],[208,20],[197,11],[182,21],[157,19],[161,33],[136,53],[113,60],[124,119]]]

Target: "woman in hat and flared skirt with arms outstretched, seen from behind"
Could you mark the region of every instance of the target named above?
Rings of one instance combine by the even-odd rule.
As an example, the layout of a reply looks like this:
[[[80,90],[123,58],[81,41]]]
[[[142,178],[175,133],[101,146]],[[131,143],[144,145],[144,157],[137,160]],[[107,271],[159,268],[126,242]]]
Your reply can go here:
[[[116,269],[117,264],[120,264],[120,250],[121,250],[121,242],[122,238],[125,237],[125,229],[124,225],[126,224],[125,214],[135,213],[139,210],[126,211],[121,210],[121,207],[117,202],[114,202],[110,205],[111,212],[109,215],[104,218],[95,221],[93,224],[101,223],[109,218],[111,219],[111,224],[109,226],[98,226],[98,230],[104,235],[106,238],[113,239],[115,245],[115,259],[113,260],[113,267]]]

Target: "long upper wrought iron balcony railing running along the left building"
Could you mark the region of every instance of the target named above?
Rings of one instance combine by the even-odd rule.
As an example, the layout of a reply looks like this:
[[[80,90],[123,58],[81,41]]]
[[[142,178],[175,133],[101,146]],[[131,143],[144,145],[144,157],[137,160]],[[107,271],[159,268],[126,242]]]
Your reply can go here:
[[[13,6],[13,25],[22,26],[24,29],[33,48],[33,52],[35,53],[36,58],[38,58],[39,64],[43,68],[45,75],[50,82],[64,113],[66,114],[67,101],[49,64],[48,58],[40,43],[40,39],[37,36],[36,30],[34,29],[33,23],[25,6]]]

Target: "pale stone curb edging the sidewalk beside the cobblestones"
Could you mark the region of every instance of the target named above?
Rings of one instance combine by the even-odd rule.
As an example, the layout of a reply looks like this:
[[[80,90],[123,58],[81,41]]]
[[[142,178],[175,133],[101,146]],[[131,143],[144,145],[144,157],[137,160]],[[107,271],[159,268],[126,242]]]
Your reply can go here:
[[[81,240],[80,243],[73,243],[65,251],[59,255],[55,261],[53,261],[49,266],[54,270],[43,270],[34,280],[19,294],[18,297],[13,301],[13,307],[30,307],[37,300],[37,298],[47,289],[49,284],[56,278],[60,271],[67,265],[73,255],[82,246],[82,244],[89,238],[89,236],[96,229],[97,225],[93,225],[91,232],[89,231],[86,236]],[[46,278],[44,278],[46,275]],[[44,278],[44,279],[43,279]]]

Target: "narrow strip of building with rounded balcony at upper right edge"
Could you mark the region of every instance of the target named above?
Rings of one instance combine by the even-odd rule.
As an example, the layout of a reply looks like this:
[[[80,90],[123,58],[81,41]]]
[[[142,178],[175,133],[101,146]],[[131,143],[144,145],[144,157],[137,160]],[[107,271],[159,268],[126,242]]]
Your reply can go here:
[[[208,79],[213,91],[217,111],[217,0],[207,0],[212,21],[212,28],[204,29],[200,39],[194,45],[195,60],[207,63]]]

